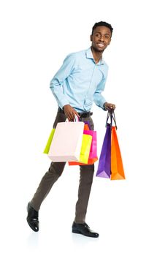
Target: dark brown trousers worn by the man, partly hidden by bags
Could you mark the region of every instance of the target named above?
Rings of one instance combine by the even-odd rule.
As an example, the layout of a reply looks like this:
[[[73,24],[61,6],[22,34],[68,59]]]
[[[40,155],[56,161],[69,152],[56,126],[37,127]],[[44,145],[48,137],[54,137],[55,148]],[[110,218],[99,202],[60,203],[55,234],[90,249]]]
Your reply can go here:
[[[64,113],[57,113],[53,128],[56,127],[58,122],[66,121],[66,116]],[[94,129],[93,121],[91,116],[88,118],[81,118],[81,121],[89,121],[91,129]],[[40,181],[37,192],[31,200],[31,206],[39,211],[42,201],[45,199],[50,189],[53,187],[55,181],[63,173],[66,162],[51,162],[50,168],[45,173]],[[91,192],[91,185],[93,181],[94,165],[81,165],[80,166],[80,184],[78,189],[78,200],[76,203],[76,211],[74,222],[83,223],[85,222],[85,215],[88,207],[88,200]]]

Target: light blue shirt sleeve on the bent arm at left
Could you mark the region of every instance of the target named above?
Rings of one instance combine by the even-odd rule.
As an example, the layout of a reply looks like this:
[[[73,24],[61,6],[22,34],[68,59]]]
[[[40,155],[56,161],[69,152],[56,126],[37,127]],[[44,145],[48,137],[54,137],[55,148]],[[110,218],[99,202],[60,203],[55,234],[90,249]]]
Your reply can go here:
[[[61,68],[56,72],[53,79],[50,81],[50,89],[53,92],[53,95],[58,103],[60,108],[63,108],[64,105],[69,104],[69,99],[67,99],[64,94],[64,80],[69,77],[74,68],[74,53],[69,54],[64,59],[64,63]]]

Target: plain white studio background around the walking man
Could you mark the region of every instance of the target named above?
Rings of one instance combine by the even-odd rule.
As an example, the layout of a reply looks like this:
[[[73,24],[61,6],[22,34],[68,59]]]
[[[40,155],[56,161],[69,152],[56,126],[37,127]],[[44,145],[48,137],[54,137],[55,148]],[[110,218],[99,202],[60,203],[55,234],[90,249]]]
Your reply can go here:
[[[163,4],[1,1],[1,255],[165,254]],[[71,233],[79,170],[66,166],[34,233],[26,205],[50,165],[42,154],[57,110],[49,83],[67,54],[91,46],[100,20],[114,28],[103,95],[117,106],[126,181],[94,177],[86,222],[100,236],[86,238]],[[92,110],[100,154],[107,113]]]

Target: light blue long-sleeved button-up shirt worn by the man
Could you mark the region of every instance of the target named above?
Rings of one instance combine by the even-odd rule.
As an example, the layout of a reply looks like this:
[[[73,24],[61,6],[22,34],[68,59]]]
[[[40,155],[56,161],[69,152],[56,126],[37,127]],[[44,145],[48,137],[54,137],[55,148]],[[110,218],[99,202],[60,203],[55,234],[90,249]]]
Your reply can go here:
[[[61,68],[50,81],[58,106],[71,105],[77,112],[90,111],[93,102],[104,109],[101,95],[107,80],[108,66],[103,59],[98,64],[91,48],[66,56]]]

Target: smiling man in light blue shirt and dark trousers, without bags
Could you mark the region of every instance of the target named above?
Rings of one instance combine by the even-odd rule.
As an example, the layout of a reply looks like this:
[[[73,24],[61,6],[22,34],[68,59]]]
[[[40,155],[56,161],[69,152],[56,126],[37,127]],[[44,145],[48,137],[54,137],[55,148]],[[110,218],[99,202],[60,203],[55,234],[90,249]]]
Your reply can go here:
[[[61,68],[50,82],[50,89],[58,103],[58,113],[53,127],[58,122],[74,121],[79,116],[81,121],[89,121],[93,129],[90,112],[93,102],[103,110],[115,109],[115,105],[108,103],[101,92],[104,91],[108,66],[102,58],[102,53],[110,45],[112,26],[106,22],[95,23],[91,34],[91,48],[66,56]],[[61,176],[65,162],[52,162],[49,170],[43,176],[37,192],[28,203],[28,225],[34,231],[39,230],[39,208],[53,184]],[[96,238],[85,223],[85,215],[93,181],[94,165],[80,166],[80,184],[76,204],[75,218],[72,232]]]

